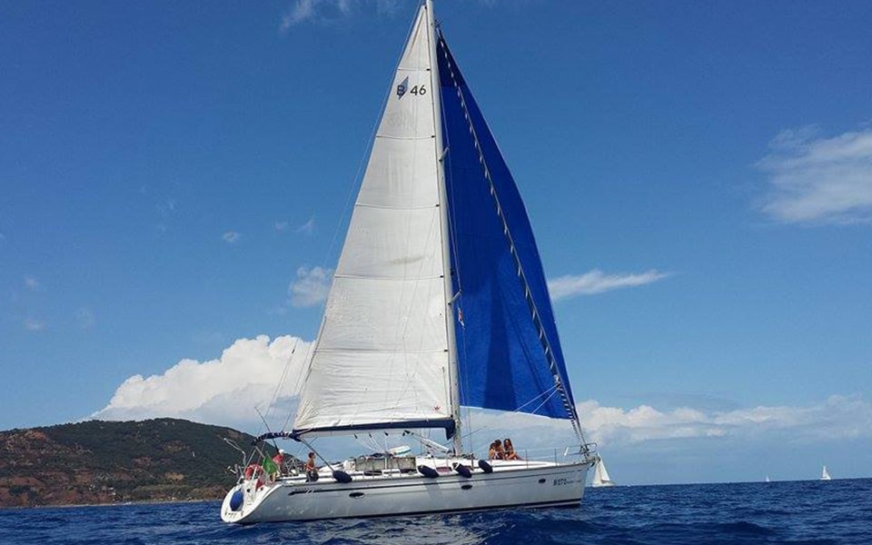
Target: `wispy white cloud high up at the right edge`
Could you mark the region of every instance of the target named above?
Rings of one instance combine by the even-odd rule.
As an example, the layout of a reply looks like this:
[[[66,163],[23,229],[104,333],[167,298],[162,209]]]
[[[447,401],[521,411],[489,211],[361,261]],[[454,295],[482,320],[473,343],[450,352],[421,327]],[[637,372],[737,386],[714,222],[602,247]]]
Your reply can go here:
[[[783,131],[758,162],[768,173],[760,209],[783,223],[872,220],[872,129],[818,137],[814,127]]]

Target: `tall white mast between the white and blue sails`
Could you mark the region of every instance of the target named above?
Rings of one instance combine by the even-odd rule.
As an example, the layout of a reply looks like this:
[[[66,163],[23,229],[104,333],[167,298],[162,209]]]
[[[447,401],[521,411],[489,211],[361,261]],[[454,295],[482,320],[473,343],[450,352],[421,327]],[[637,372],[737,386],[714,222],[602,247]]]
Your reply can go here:
[[[439,77],[439,61],[436,51],[436,18],[433,15],[433,1],[425,0],[427,10],[427,30],[430,47],[430,88],[433,93],[433,127],[436,140],[436,178],[439,184],[439,207],[441,214],[442,238],[442,278],[445,283],[445,328],[448,336],[448,381],[451,390],[451,418],[454,420],[454,454],[460,456],[463,452],[461,433],[461,390],[458,378],[457,342],[454,338],[454,285],[451,270],[451,248],[448,214],[448,191],[445,188],[445,169],[442,161],[445,150],[442,146],[442,99],[441,81]]]

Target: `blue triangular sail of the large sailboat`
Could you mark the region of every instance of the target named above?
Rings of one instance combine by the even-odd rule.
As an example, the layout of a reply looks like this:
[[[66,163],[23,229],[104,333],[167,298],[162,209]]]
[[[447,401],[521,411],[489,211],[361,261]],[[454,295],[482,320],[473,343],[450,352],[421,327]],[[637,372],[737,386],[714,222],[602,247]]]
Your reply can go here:
[[[518,188],[439,37],[461,405],[578,420]]]

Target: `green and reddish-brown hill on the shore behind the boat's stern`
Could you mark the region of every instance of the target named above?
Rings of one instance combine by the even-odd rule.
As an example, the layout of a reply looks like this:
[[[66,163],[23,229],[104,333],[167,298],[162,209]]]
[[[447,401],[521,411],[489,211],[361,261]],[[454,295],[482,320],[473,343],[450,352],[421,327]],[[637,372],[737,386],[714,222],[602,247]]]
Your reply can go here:
[[[191,421],[85,421],[0,431],[0,507],[219,500],[251,435]]]

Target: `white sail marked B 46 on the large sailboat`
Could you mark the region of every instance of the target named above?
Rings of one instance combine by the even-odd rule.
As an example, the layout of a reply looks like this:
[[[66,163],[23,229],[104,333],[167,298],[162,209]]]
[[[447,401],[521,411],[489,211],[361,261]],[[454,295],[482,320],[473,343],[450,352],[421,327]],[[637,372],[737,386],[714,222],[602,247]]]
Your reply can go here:
[[[452,426],[432,42],[421,6],[354,204],[295,431]]]

